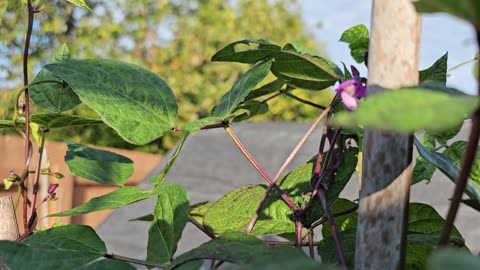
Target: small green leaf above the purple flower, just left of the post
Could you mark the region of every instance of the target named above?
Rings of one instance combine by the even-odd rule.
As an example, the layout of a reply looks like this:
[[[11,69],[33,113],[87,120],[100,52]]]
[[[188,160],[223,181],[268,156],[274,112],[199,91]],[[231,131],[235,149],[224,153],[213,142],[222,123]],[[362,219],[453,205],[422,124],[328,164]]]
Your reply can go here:
[[[339,41],[347,43],[352,58],[357,63],[362,63],[364,54],[368,51],[369,39],[368,28],[363,24],[358,24],[345,30]]]

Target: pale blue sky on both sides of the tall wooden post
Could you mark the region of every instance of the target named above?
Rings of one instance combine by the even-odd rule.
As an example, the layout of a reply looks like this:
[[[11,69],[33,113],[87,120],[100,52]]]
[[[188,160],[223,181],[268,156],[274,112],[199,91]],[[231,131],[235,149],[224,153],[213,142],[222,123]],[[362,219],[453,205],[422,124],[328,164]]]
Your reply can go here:
[[[341,65],[355,64],[348,45],[338,42],[342,32],[354,25],[370,27],[371,0],[300,0],[301,13],[318,42],[326,44],[329,58]],[[321,25],[318,27],[317,25]],[[448,68],[473,59],[478,52],[475,32],[468,23],[444,14],[422,16],[420,43],[420,69],[431,66],[448,51]],[[362,65],[358,65],[360,67]],[[361,71],[364,71],[362,69]],[[475,94],[477,83],[473,76],[473,64],[467,64],[451,72],[447,86],[469,94]]]

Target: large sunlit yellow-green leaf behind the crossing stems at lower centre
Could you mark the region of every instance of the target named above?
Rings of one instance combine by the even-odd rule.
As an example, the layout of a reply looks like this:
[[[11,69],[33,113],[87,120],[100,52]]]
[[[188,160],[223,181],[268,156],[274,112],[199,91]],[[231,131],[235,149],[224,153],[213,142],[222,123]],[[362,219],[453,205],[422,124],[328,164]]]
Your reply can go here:
[[[350,148],[343,155],[337,153],[337,158],[342,156],[343,162],[337,169],[333,183],[326,192],[329,205],[335,202],[350,180],[356,167],[357,152],[357,148]],[[310,161],[296,168],[278,182],[279,187],[297,205],[304,204],[305,200],[309,198],[308,194],[312,190],[310,179],[314,163],[314,161]],[[227,230],[245,231],[265,190],[265,185],[256,185],[231,191],[207,210],[203,220],[204,226],[215,234],[221,234]],[[253,235],[284,234],[295,231],[292,212],[276,192],[270,193],[259,214],[251,232]],[[304,222],[309,225],[322,215],[323,209],[318,200],[315,200],[312,209],[307,212]]]

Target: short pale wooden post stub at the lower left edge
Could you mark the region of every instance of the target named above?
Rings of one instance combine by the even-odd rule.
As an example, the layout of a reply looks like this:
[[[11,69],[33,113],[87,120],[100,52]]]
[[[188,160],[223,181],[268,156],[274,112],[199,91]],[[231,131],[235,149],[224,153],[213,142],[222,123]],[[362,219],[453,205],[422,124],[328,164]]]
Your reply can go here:
[[[19,236],[15,207],[10,196],[0,197],[0,240],[15,240]],[[0,270],[8,269],[0,254]]]

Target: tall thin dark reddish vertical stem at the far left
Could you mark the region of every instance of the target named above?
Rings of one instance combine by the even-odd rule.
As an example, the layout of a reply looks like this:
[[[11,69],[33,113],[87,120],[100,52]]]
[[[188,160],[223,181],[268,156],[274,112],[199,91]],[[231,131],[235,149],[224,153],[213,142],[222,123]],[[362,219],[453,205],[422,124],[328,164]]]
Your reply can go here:
[[[25,47],[23,51],[23,84],[28,85],[28,51],[30,48],[30,38],[32,36],[33,28],[33,15],[34,10],[32,6],[32,1],[27,0],[27,10],[28,10],[28,22],[27,22],[27,33],[25,36]],[[30,102],[28,96],[28,88],[25,89],[25,164],[28,163],[30,159]],[[25,175],[25,178],[21,180],[23,185],[23,227],[24,230],[28,230],[28,171]]]

